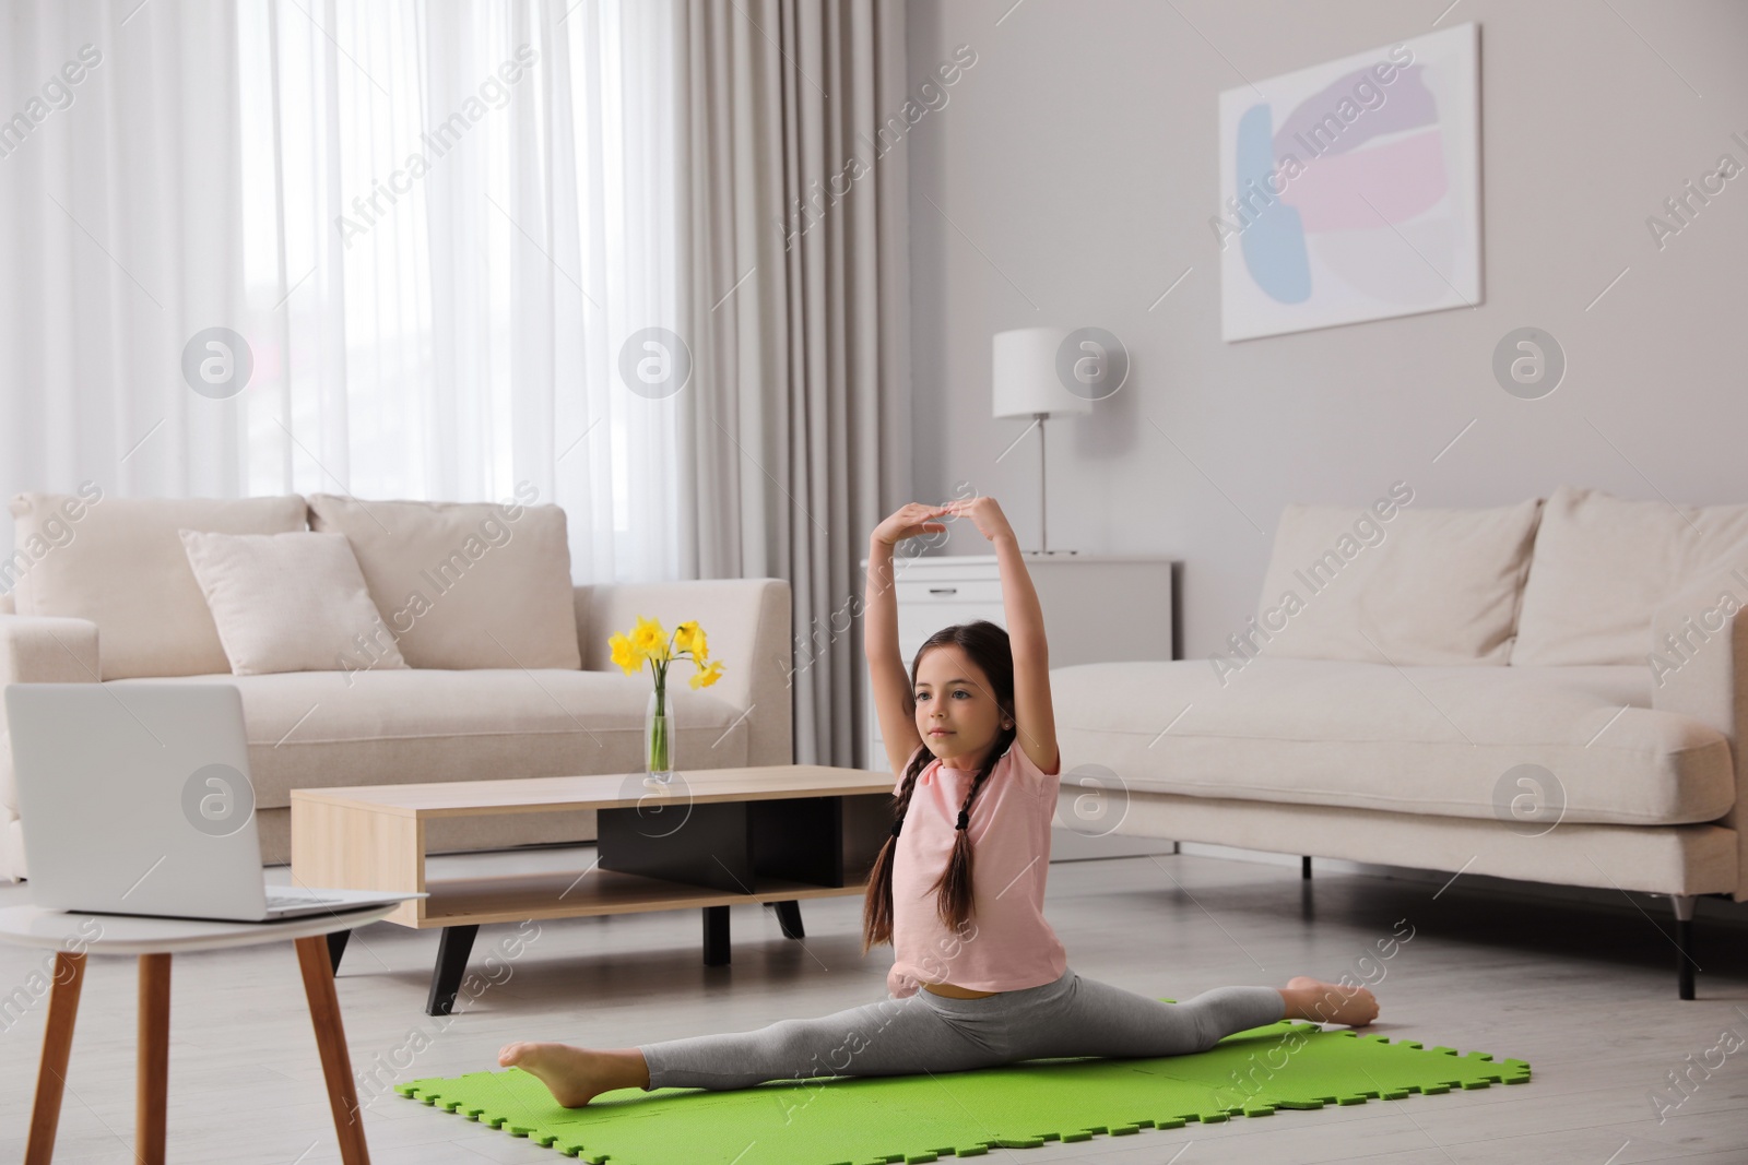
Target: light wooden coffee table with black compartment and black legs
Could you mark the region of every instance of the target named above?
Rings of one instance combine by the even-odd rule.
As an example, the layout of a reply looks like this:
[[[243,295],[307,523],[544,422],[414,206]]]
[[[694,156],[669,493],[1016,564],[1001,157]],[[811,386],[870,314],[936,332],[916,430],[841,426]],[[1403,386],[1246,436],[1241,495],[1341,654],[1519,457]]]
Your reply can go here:
[[[769,903],[802,938],[801,900],[862,894],[891,835],[884,772],[825,765],[697,769],[669,789],[643,774],[371,784],[292,791],[292,877],[301,886],[425,893],[385,920],[442,927],[427,1015],[449,1015],[474,936],[488,922],[703,908],[704,964],[729,962],[729,906]],[[427,880],[435,817],[594,809],[596,863],[568,873]],[[346,933],[329,938],[334,966]]]

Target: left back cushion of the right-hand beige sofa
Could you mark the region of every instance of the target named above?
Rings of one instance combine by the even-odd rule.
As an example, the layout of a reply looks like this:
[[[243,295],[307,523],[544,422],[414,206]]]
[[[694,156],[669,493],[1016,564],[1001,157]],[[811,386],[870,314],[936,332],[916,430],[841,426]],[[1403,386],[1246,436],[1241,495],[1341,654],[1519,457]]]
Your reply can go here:
[[[1402,667],[1507,662],[1540,503],[1426,510],[1400,500],[1285,508],[1255,650]]]

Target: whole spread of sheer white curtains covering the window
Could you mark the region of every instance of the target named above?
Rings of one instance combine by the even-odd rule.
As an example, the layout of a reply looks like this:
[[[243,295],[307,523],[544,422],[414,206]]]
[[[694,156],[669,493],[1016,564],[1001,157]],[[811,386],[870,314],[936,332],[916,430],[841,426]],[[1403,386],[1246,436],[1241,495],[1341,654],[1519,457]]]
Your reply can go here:
[[[136,5],[0,24],[26,84],[103,56],[0,155],[24,227],[0,243],[0,487],[526,480],[566,508],[577,578],[682,576],[685,396],[621,374],[628,337],[676,327],[671,7]],[[184,383],[208,327],[253,360],[234,396]]]

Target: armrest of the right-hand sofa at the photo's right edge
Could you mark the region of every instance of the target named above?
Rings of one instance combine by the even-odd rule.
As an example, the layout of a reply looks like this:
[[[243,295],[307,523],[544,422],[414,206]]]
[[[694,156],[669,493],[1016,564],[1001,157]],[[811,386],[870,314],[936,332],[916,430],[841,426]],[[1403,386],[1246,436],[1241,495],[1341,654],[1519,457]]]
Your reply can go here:
[[[1652,615],[1650,706],[1711,725],[1731,742],[1736,901],[1748,901],[1748,611],[1722,582],[1689,587]]]

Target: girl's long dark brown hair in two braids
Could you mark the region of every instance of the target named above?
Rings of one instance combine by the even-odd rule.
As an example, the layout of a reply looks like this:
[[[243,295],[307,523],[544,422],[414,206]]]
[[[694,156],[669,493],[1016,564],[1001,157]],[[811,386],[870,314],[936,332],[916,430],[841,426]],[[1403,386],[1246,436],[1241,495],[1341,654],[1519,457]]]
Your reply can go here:
[[[1014,720],[1014,650],[1009,646],[1007,631],[984,618],[972,624],[942,627],[916,650],[916,658],[911,660],[912,704],[916,699],[916,672],[923,664],[923,657],[944,646],[963,648],[965,655],[982,669],[984,678],[989,681],[989,695],[995,697],[996,707],[1009,720]],[[940,920],[954,931],[972,915],[972,842],[970,830],[967,828],[970,824],[972,802],[977,800],[977,793],[982,791],[984,781],[989,779],[996,762],[1014,744],[1017,730],[1019,725],[1016,720],[1016,727],[996,732],[995,744],[984,758],[982,769],[977,770],[977,777],[965,795],[965,803],[960,805],[958,837],[953,840],[953,856],[933,886],[935,910],[940,913]],[[918,749],[904,772],[904,788],[893,798],[891,837],[881,845],[879,856],[874,859],[872,870],[869,870],[869,889],[862,903],[862,954],[867,954],[871,947],[891,941],[891,865],[898,849],[898,828],[904,824],[905,810],[911,809],[911,793],[916,789],[916,777],[921,776],[932,760],[933,756],[930,756],[928,748]]]

